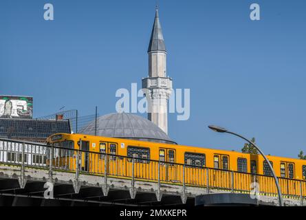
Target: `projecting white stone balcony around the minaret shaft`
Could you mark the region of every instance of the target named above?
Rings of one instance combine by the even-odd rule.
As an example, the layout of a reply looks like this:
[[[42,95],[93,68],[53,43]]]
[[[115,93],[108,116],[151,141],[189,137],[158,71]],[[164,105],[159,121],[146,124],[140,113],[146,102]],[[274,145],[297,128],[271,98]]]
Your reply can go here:
[[[142,89],[172,89],[172,78],[168,77],[143,78]]]

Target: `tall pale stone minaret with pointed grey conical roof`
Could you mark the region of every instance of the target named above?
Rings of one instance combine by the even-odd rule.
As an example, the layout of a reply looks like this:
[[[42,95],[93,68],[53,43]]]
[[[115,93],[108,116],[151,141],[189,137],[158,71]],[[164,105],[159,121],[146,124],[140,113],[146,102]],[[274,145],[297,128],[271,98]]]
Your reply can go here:
[[[149,77],[142,79],[142,89],[145,89],[148,100],[148,119],[168,133],[167,107],[172,91],[172,79],[166,74],[167,52],[157,8],[148,55]]]

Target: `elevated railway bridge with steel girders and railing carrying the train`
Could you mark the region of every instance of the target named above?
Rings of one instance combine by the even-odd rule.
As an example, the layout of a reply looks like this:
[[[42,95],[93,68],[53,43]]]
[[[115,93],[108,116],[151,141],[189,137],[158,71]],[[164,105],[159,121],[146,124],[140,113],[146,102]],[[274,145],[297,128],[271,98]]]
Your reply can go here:
[[[200,195],[254,197],[254,182],[253,204],[277,206],[269,176],[0,139],[0,206],[194,206]],[[306,181],[279,182],[285,206],[305,205]]]

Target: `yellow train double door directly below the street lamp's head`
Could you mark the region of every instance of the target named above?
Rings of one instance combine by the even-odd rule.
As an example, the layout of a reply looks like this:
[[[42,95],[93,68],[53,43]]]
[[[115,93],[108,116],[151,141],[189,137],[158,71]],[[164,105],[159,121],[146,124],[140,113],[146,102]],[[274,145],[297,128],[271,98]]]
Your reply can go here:
[[[229,173],[224,170],[229,168],[228,155],[215,154],[212,184],[216,187],[228,188],[230,185],[228,180]]]

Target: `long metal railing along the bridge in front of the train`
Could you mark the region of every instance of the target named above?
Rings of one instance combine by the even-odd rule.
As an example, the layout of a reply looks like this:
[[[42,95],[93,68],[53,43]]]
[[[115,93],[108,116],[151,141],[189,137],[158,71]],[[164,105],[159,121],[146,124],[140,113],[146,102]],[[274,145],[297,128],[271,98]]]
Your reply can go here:
[[[0,164],[63,170],[73,173],[177,184],[183,187],[252,193],[252,184],[259,185],[259,195],[277,197],[273,177],[240,173],[152,159],[81,151],[30,142],[0,139]],[[279,177],[284,197],[305,199],[306,181]]]

